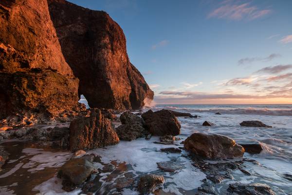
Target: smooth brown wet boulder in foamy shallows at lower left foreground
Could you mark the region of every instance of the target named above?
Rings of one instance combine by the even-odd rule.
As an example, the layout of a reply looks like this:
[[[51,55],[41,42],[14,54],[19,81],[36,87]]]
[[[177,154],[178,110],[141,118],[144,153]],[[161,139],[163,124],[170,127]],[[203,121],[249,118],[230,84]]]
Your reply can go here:
[[[58,177],[63,178],[63,189],[72,191],[75,186],[86,181],[96,168],[92,164],[93,156],[86,155],[81,158],[72,158],[67,161],[58,172]]]

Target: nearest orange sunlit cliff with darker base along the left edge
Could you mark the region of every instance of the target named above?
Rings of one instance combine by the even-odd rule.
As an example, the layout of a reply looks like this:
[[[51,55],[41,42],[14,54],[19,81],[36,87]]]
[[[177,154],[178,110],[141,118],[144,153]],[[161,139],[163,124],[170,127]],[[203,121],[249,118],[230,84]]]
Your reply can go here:
[[[0,1],[0,26],[0,118],[77,109],[78,79],[61,52],[47,0]]]

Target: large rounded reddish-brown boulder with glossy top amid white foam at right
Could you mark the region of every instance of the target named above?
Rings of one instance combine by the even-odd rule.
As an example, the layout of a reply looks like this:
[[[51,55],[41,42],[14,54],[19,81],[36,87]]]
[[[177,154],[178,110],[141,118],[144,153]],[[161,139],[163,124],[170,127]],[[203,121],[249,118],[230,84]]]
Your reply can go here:
[[[184,140],[183,145],[189,152],[209,159],[241,157],[244,153],[242,146],[221,135],[194,133]]]

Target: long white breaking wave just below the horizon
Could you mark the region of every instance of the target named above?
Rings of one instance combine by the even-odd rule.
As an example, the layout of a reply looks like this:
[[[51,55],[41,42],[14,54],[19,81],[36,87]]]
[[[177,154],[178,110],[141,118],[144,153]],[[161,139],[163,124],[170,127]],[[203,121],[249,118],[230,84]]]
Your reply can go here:
[[[161,107],[155,107],[162,109]],[[292,116],[292,110],[285,109],[255,109],[255,108],[233,108],[233,109],[193,109],[193,108],[180,108],[176,106],[166,106],[164,109],[188,112],[188,113],[221,113],[228,115],[267,115],[267,116]]]

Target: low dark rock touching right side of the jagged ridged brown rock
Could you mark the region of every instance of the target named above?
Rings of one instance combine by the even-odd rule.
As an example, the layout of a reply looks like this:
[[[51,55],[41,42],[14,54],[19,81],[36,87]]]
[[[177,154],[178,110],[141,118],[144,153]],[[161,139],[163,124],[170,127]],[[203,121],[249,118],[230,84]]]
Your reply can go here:
[[[145,128],[139,124],[120,125],[116,128],[120,140],[132,141],[139,137],[145,137]]]

